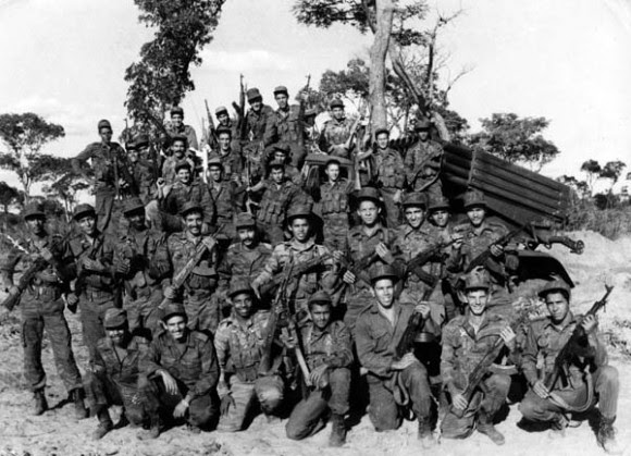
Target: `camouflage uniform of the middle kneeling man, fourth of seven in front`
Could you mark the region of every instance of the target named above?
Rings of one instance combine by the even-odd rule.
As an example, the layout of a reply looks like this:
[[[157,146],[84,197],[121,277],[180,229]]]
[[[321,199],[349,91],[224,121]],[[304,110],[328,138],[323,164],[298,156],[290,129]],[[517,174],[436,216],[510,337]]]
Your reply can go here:
[[[354,360],[350,331],[342,321],[332,321],[324,330],[308,321],[300,329],[300,335],[309,371],[326,365],[329,385],[310,391],[292,411],[286,431],[294,440],[311,435],[329,409],[339,416],[348,411],[350,365]]]

